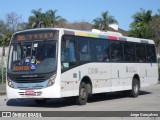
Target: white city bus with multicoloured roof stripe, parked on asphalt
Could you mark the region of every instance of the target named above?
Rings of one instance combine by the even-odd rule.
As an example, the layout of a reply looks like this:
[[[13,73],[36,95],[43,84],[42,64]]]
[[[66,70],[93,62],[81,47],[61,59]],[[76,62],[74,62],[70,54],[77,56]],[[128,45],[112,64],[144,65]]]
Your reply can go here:
[[[158,82],[152,40],[119,33],[40,28],[12,36],[8,56],[8,98],[73,97],[84,105],[89,94],[124,91]]]

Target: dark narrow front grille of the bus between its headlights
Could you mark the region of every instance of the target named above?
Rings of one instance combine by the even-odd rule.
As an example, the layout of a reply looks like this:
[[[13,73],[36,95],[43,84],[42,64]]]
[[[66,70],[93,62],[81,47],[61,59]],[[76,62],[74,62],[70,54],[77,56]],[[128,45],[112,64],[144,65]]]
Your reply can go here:
[[[24,78],[16,78],[14,81],[16,83],[40,83],[40,82],[44,82],[45,80],[47,80],[44,77],[24,77]]]

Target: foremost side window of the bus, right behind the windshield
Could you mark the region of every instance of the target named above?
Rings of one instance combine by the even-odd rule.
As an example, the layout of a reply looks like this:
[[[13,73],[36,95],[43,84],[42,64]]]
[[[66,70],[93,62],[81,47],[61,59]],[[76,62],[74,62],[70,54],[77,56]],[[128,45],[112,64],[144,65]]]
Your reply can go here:
[[[68,69],[76,64],[74,37],[65,36],[62,39],[61,62],[62,69]]]

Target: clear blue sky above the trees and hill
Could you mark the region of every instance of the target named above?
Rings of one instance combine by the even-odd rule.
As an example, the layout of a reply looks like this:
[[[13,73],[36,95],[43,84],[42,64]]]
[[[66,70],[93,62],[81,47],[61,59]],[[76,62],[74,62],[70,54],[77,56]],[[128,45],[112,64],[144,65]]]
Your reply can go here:
[[[108,11],[118,21],[119,28],[129,30],[133,14],[144,8],[152,10],[154,15],[160,9],[160,0],[0,0],[0,19],[4,19],[7,13],[16,12],[27,22],[31,11],[39,8],[42,12],[57,10],[57,15],[69,22],[90,23],[102,12]]]

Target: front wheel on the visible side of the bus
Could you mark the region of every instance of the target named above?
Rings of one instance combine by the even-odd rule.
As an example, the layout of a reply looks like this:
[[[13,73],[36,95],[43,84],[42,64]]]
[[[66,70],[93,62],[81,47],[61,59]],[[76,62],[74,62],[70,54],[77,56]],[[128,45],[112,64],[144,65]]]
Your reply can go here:
[[[87,85],[82,82],[79,88],[79,96],[77,98],[76,103],[78,105],[85,105],[88,99]]]

